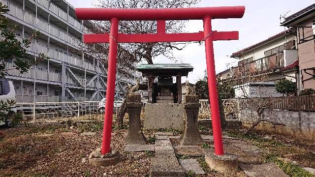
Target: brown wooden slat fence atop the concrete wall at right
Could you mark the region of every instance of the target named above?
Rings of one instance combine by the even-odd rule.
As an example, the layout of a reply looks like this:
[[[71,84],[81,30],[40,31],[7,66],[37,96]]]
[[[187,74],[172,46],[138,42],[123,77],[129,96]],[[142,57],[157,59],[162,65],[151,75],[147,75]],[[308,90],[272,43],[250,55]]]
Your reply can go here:
[[[240,108],[268,107],[290,111],[315,111],[315,96],[242,98]]]

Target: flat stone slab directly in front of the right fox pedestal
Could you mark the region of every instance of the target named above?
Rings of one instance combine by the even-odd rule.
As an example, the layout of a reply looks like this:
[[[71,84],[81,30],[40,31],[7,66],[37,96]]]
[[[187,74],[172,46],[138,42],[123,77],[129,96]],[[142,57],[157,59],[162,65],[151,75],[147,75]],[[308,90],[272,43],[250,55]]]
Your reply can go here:
[[[174,146],[175,154],[188,156],[204,156],[205,152],[199,146]]]

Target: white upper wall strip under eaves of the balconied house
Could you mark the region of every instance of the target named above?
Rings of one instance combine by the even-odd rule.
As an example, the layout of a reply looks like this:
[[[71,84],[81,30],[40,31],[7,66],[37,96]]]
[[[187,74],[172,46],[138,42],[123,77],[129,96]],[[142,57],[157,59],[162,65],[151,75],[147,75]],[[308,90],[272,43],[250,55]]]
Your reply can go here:
[[[285,37],[281,37],[281,38],[276,39],[272,42],[266,43],[262,46],[259,46],[255,49],[253,49],[250,52],[247,52],[246,54],[242,55],[239,59],[244,60],[244,59],[249,59],[252,57],[253,60],[256,60],[256,59],[264,58],[265,57],[265,51],[268,51],[268,50],[273,49],[275,47],[281,46],[281,45],[285,44],[285,41],[288,42],[288,41],[295,39],[295,38],[296,38],[296,36],[294,36],[292,34],[288,34],[286,36],[286,40],[285,40]]]

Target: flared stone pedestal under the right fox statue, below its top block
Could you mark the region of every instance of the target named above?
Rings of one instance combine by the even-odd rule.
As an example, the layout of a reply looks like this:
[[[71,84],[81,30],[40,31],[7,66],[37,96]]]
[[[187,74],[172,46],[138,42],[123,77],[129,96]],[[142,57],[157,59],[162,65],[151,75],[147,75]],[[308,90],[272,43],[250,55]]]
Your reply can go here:
[[[200,103],[185,103],[184,105],[186,126],[184,134],[180,139],[182,146],[201,146],[203,143],[197,125],[200,107]]]

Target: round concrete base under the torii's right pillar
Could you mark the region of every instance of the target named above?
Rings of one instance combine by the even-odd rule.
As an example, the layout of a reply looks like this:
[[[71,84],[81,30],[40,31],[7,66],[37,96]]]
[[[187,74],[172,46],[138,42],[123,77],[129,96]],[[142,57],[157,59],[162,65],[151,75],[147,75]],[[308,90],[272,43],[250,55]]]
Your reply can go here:
[[[234,154],[216,155],[213,150],[205,150],[205,160],[211,169],[232,174],[238,171],[238,158]]]

